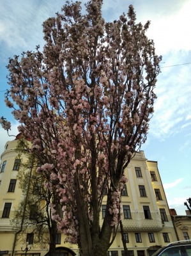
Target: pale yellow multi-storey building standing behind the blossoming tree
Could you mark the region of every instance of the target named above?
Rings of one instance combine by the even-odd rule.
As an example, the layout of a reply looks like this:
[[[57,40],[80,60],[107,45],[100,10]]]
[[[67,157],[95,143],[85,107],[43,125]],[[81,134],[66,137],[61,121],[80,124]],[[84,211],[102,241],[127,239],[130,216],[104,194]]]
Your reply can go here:
[[[8,141],[1,155],[0,169],[0,252],[8,251],[11,256],[48,255],[47,248],[29,248],[26,244],[20,248],[17,234],[13,232],[10,220],[14,208],[19,204],[22,193],[17,182],[20,159],[15,148],[17,140]],[[148,256],[160,246],[177,241],[171,214],[160,179],[156,161],[148,161],[144,152],[136,153],[125,170],[128,182],[121,195],[121,220],[129,256]],[[107,195],[105,195],[106,198]],[[100,223],[104,218],[105,205],[103,198]],[[26,241],[33,237],[26,234]],[[77,246],[64,243],[64,235],[57,234],[57,256],[79,255]],[[123,256],[124,249],[121,234],[118,232],[114,243],[109,249],[109,256]]]

